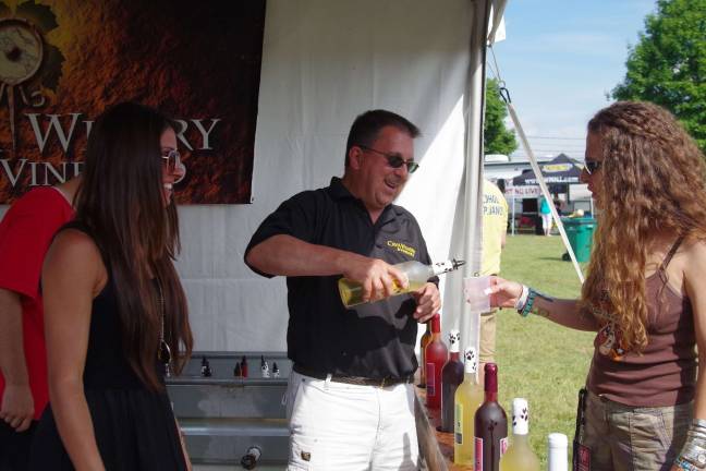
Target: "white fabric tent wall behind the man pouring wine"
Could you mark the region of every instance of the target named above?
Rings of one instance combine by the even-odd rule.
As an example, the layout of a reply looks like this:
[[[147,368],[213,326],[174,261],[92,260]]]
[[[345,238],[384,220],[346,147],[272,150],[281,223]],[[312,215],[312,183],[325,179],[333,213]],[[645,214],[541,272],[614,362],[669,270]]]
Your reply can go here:
[[[349,128],[368,109],[399,112],[422,129],[422,167],[398,203],[418,219],[435,261],[465,256],[476,269],[491,3],[500,17],[500,0],[268,0],[253,204],[179,208],[178,269],[196,349],[285,349],[284,279],[255,275],[243,252],[279,203],[343,173]],[[445,330],[462,315],[457,294],[445,297]]]

